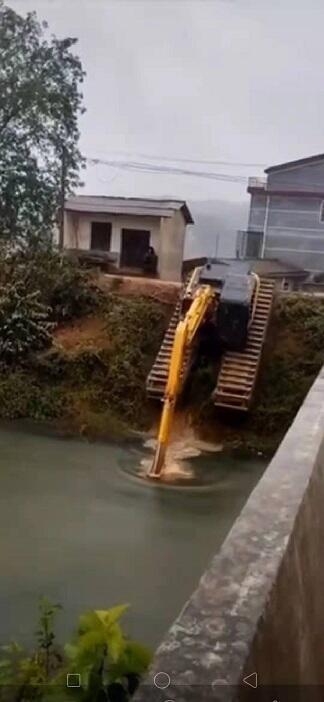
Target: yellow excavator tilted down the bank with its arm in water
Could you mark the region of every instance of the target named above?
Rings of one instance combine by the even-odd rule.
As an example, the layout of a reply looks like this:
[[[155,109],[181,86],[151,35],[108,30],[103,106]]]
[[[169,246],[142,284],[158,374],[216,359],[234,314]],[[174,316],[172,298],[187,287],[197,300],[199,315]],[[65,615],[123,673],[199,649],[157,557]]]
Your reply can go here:
[[[163,473],[176,402],[184,383],[184,368],[186,365],[190,367],[190,354],[193,352],[198,332],[206,322],[214,327],[217,345],[220,352],[223,352],[218,376],[220,380],[214,391],[215,404],[232,409],[248,408],[256,381],[272,297],[272,282],[260,281],[251,271],[233,273],[231,269],[226,270],[210,263],[194,270],[177,308],[176,316],[179,319],[176,324],[173,320],[174,331],[172,334],[170,330],[167,332],[167,345],[164,352],[163,344],[160,350],[160,354],[164,353],[164,356],[169,353],[166,360],[167,380],[163,392],[157,447],[147,477],[160,479]],[[151,388],[151,396],[154,396],[154,393],[157,396],[156,383],[161,380],[158,364],[159,356],[147,381],[149,394]]]

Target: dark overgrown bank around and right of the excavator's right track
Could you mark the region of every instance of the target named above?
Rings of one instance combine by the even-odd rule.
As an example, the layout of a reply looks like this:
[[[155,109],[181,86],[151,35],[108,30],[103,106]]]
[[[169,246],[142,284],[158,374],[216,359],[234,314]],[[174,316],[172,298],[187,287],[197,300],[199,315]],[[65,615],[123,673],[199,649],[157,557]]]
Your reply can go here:
[[[220,414],[210,402],[214,366],[202,365],[190,389],[193,422],[231,447],[271,454],[292,423],[324,363],[324,299],[277,296],[251,411]]]

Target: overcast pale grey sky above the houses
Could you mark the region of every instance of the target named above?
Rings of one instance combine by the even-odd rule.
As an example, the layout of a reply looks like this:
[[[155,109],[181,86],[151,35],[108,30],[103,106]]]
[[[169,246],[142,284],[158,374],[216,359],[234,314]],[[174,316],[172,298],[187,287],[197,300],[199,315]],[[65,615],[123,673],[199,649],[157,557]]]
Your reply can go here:
[[[323,0],[7,4],[36,10],[60,37],[78,37],[87,72],[86,156],[125,158],[120,151],[142,161],[137,154],[272,165],[324,151]],[[90,167],[85,181],[90,194],[246,197],[244,183],[110,167]]]

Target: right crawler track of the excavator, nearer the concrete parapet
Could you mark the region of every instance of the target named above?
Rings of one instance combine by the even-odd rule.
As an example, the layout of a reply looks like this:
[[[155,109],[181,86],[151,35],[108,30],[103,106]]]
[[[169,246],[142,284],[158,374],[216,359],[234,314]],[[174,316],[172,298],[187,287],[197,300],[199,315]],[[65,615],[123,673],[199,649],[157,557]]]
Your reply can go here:
[[[248,410],[259,370],[262,348],[270,319],[274,283],[260,279],[253,322],[244,351],[227,351],[222,358],[213,392],[216,407]]]

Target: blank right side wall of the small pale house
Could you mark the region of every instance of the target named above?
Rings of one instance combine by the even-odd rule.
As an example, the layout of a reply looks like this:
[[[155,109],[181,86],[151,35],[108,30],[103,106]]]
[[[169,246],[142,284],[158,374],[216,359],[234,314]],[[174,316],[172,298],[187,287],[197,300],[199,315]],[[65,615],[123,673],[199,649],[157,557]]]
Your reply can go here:
[[[161,218],[160,277],[162,280],[181,280],[186,223],[180,211],[173,217]]]

